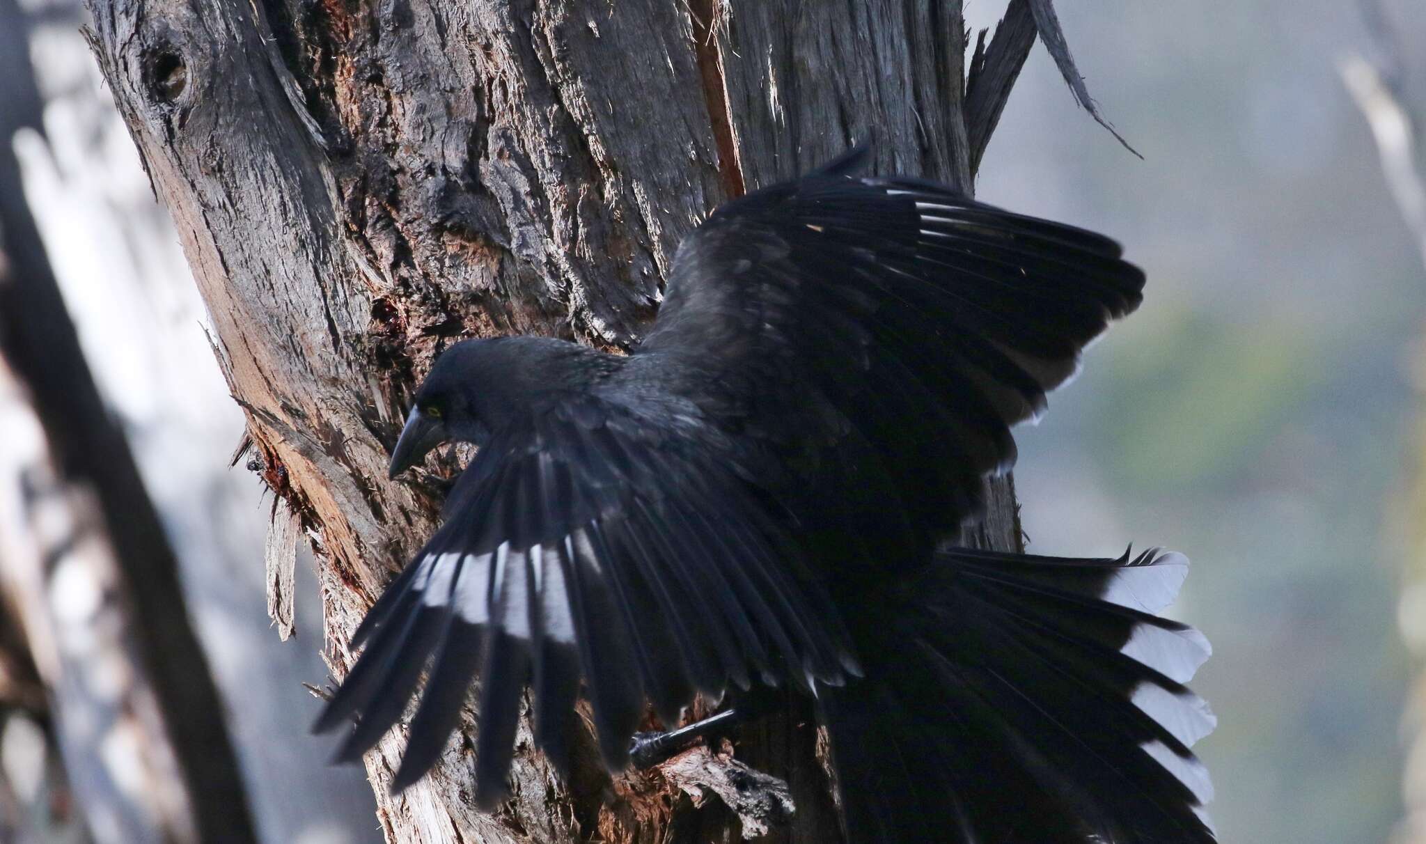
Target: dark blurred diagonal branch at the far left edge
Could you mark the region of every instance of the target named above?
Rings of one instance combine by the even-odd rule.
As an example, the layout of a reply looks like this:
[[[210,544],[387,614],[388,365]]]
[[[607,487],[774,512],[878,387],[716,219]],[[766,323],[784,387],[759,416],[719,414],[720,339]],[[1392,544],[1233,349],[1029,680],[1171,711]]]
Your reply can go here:
[[[138,806],[134,817],[153,817],[155,840],[251,841],[237,758],[228,741],[222,706],[208,671],[208,660],[188,622],[178,583],[177,560],[164,535],[124,432],[106,408],[88,371],[74,325],[64,308],[60,288],[26,205],[20,165],[11,138],[21,127],[40,128],[40,97],[29,64],[27,26],[14,0],[0,0],[0,254],[7,272],[0,277],[0,358],[10,376],[24,391],[27,403],[44,428],[48,453],[58,475],[50,485],[33,486],[11,499],[19,518],[11,528],[40,512],[41,500],[53,498],[71,512],[74,529],[87,532],[60,540],[58,546],[37,546],[29,555],[41,569],[34,572],[43,587],[24,595],[36,616],[50,606],[50,577],[73,547],[91,549],[90,575],[96,583],[117,590],[116,619],[123,624],[121,643],[104,659],[134,662],[133,681],[151,694],[161,733],[140,743],[158,747],[177,763],[174,784],[181,808]],[[13,91],[13,96],[11,96]],[[11,478],[24,479],[33,468],[10,466]],[[48,492],[47,492],[48,490]],[[53,493],[53,495],[51,495]],[[31,537],[43,532],[31,528]],[[21,537],[10,542],[7,566],[21,565],[16,550]],[[83,555],[81,555],[83,556]],[[106,562],[107,560],[107,562]],[[40,600],[39,603],[30,603]],[[31,624],[53,623],[51,619]],[[53,634],[53,633],[51,633]],[[57,671],[80,666],[58,660]],[[46,681],[56,696],[56,711],[68,703],[64,690],[73,677],[54,673]],[[147,729],[138,719],[140,730]],[[151,724],[150,724],[151,726]],[[61,726],[63,730],[63,726]],[[73,761],[73,757],[71,757]],[[98,761],[98,760],[93,760]],[[88,764],[93,764],[88,761]],[[140,763],[141,764],[141,763]],[[155,796],[174,788],[155,788]],[[116,794],[123,794],[116,788]],[[131,796],[130,798],[140,798]],[[160,801],[161,803],[161,801]],[[175,815],[175,811],[178,813]],[[97,830],[96,830],[97,831]]]

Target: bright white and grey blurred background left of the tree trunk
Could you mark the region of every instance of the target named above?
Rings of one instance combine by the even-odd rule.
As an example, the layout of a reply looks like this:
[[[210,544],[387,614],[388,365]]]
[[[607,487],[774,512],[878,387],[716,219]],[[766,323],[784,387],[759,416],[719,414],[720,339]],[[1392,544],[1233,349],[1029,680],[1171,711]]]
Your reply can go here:
[[[329,766],[334,744],[308,730],[321,701],[302,684],[328,680],[311,562],[298,560],[295,630],[282,642],[264,609],[264,540],[272,496],[247,469],[247,458],[230,468],[242,436],[242,413],[218,369],[202,299],[173,222],[154,201],[128,131],[100,81],[80,33],[83,23],[78,0],[0,0],[0,127],[14,133],[3,143],[19,160],[24,200],[78,329],[84,359],[127,435],[177,553],[188,614],[227,710],[258,838],[272,844],[378,843],[381,825],[365,774],[359,767]],[[30,91],[27,78],[33,78]],[[53,475],[61,472],[43,470],[39,425],[19,399],[0,365],[0,490],[19,486],[27,499],[43,505],[60,486]],[[36,465],[40,472],[34,472]],[[14,482],[17,470],[21,475]],[[157,840],[181,838],[183,830],[170,828],[168,818],[181,811],[148,797],[171,777],[171,766],[160,760],[135,770],[123,761],[125,747],[151,747],[164,738],[151,713],[127,717],[130,710],[153,709],[147,701],[151,693],[125,687],[143,686],[135,679],[141,670],[138,646],[93,633],[113,633],[121,624],[106,616],[121,612],[113,606],[121,606],[113,599],[114,575],[93,555],[71,559],[67,546],[44,547],[54,516],[33,500],[9,502],[16,506],[7,508],[4,496],[0,492],[0,573],[11,600],[19,595],[21,603],[7,609],[41,654],[36,660],[41,677],[48,673],[43,664],[47,653],[63,662],[68,674],[81,677],[83,689],[61,690],[81,699],[63,707],[80,716],[63,724],[71,733],[68,744],[78,747],[63,761],[77,794],[111,797],[104,811],[90,818],[94,828],[88,835],[117,844],[154,841],[155,834]],[[23,512],[39,516],[24,519]],[[46,552],[41,566],[48,590],[26,582],[34,577],[24,572],[27,549],[17,547],[23,545],[17,539],[27,533]],[[305,547],[307,542],[297,545]],[[34,604],[46,600],[47,613],[34,613]],[[6,614],[0,610],[0,619]],[[48,619],[36,620],[36,614]],[[53,642],[34,642],[36,636]],[[0,690],[7,679],[3,660],[0,653]],[[116,674],[128,683],[114,680]],[[37,719],[41,729],[44,714]],[[34,719],[11,717],[3,704],[0,716],[6,716],[0,731],[0,843],[90,840],[77,824],[58,823],[73,813],[48,811],[64,810],[68,797],[36,776],[36,757],[44,748]],[[73,721],[80,721],[78,727]],[[7,827],[21,808],[29,813],[26,823]]]

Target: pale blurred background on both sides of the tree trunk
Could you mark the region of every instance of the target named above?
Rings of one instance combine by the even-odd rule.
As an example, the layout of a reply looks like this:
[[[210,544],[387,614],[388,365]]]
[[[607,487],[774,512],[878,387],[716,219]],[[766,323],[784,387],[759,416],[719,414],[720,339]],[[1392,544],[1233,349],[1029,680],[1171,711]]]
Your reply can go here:
[[[970,24],[1002,7],[973,0]],[[329,747],[307,734],[317,701],[302,683],[327,679],[315,586],[299,560],[295,639],[279,642],[264,613],[271,499],[241,460],[228,468],[241,415],[77,3],[0,10],[13,50],[0,64],[26,60],[39,98],[26,125],[0,97],[0,125],[19,125],[3,143],[181,560],[260,837],[379,841],[364,777],[327,767]],[[1111,234],[1149,288],[1020,433],[1031,549],[1118,555],[1132,540],[1194,559],[1175,612],[1215,646],[1196,687],[1219,727],[1199,750],[1225,841],[1423,843],[1403,788],[1413,647],[1426,656],[1426,587],[1412,587],[1426,547],[1426,271],[1340,68],[1365,60],[1426,114],[1426,13],[1415,0],[1095,0],[1060,14],[1089,91],[1144,160],[1075,107],[1037,47],[978,192]],[[41,448],[17,396],[0,372],[6,463]],[[53,612],[98,612],[74,604]],[[61,656],[97,647],[57,639]],[[43,758],[44,729],[21,711],[0,730],[0,817],[48,813],[0,840],[87,840],[63,823],[63,788],[10,761]]]

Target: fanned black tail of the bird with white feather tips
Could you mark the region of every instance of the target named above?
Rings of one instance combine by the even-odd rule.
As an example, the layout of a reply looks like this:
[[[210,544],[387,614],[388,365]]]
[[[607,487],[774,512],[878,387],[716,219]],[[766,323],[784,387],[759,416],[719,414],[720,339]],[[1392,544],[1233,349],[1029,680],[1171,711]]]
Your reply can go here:
[[[1209,646],[1154,616],[1186,569],[955,549],[877,596],[866,679],[821,693],[848,840],[1214,841]]]

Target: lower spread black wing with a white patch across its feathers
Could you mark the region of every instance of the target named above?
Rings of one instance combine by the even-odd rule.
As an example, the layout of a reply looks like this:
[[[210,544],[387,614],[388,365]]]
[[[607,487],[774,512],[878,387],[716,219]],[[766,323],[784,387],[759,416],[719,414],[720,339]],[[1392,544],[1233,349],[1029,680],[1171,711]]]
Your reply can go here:
[[[359,716],[339,750],[359,757],[429,660],[394,788],[435,763],[476,673],[482,804],[505,791],[526,681],[536,743],[556,766],[568,770],[583,681],[603,757],[620,768],[646,697],[673,723],[694,691],[838,684],[856,670],[797,553],[714,445],[570,396],[482,446],[445,525],[352,636],[365,650],[317,727]]]

